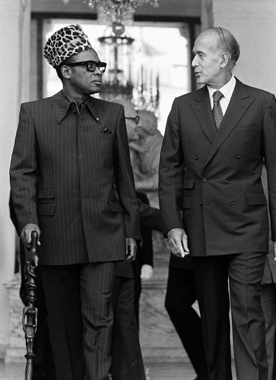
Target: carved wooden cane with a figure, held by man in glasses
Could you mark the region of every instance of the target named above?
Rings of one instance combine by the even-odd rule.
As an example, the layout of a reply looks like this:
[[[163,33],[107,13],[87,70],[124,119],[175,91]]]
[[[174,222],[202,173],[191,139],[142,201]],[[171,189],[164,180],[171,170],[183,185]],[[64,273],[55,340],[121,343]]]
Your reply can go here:
[[[25,358],[27,359],[26,370],[25,370],[25,380],[32,380],[33,378],[33,359],[36,355],[33,353],[33,341],[36,333],[37,323],[38,323],[38,309],[34,306],[36,300],[36,279],[37,276],[34,274],[34,269],[38,265],[38,255],[36,254],[36,244],[38,242],[37,231],[31,231],[31,248],[30,251],[25,249],[26,261],[24,274],[27,287],[27,300],[28,306],[23,309],[22,326],[25,332],[26,348],[27,354]],[[27,323],[25,324],[25,317],[27,318]]]

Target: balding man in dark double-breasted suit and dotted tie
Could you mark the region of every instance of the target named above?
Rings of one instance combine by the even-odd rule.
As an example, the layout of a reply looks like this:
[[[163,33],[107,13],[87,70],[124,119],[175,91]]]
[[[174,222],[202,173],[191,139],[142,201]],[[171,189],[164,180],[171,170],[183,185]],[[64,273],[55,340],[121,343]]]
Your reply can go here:
[[[276,250],[276,101],[232,74],[240,49],[224,28],[195,41],[196,80],[205,86],[174,100],[159,168],[160,210],[172,253],[190,254],[210,380],[231,380],[230,285],[238,380],[266,380],[260,303],[271,237]]]

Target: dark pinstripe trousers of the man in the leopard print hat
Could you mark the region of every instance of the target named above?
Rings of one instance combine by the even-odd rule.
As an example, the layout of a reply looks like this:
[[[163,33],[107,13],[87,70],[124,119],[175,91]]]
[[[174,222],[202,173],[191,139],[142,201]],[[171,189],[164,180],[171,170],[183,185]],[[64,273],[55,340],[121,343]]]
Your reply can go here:
[[[42,265],[58,380],[108,380],[116,262]]]

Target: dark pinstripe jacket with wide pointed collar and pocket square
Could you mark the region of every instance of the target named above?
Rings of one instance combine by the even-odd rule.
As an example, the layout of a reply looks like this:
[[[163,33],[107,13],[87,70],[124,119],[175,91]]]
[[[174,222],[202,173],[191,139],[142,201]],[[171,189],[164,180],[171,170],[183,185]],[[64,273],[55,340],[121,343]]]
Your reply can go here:
[[[90,97],[78,117],[61,92],[23,103],[10,178],[20,231],[41,229],[41,264],[124,260],[125,237],[140,239],[121,105]]]

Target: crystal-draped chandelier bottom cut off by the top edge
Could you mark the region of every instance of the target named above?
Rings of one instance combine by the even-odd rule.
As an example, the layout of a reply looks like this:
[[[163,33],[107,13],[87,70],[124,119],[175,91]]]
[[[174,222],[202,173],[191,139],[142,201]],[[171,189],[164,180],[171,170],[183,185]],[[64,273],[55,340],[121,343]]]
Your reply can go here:
[[[129,25],[137,6],[150,4],[157,7],[159,0],[83,0],[91,9],[97,6],[98,20],[102,24],[111,25],[120,22]],[[63,0],[69,3],[69,0]]]

